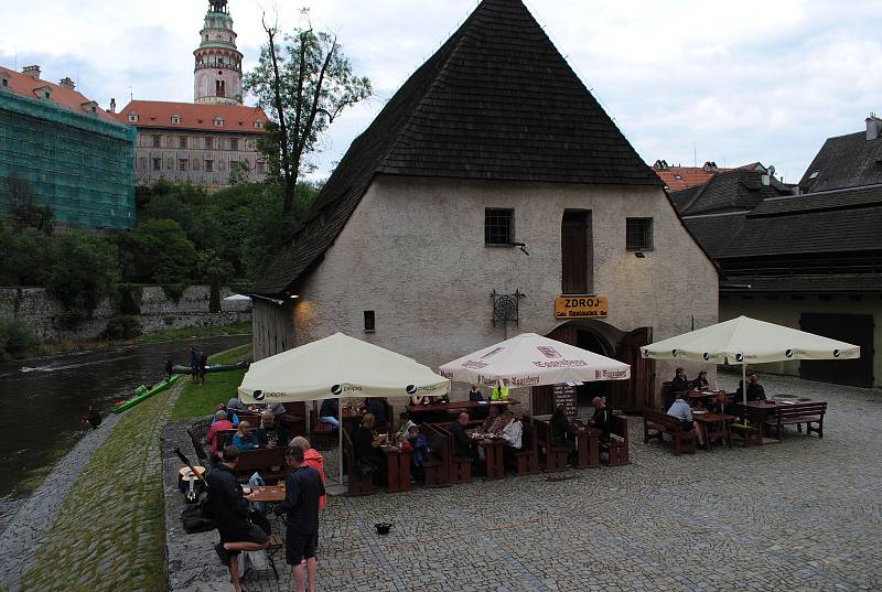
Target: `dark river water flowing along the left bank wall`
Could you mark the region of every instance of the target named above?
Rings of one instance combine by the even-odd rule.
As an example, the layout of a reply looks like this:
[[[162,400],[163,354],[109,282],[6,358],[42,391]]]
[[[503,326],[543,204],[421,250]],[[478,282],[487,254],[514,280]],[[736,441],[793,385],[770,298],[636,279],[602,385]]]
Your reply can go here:
[[[128,345],[0,365],[0,515],[30,493],[29,480],[57,460],[89,428],[89,405],[105,416],[114,401],[164,376],[163,360],[190,365],[190,347],[215,354],[247,335]]]

